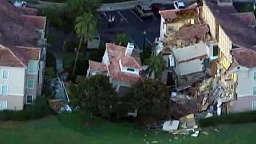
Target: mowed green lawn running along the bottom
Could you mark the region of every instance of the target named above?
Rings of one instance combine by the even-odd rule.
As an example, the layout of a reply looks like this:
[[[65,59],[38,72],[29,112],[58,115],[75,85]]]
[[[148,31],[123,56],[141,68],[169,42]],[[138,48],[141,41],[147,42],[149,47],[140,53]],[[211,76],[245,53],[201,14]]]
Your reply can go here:
[[[217,128],[219,132],[214,129]],[[203,129],[209,135],[174,136],[143,131],[127,123],[113,123],[78,113],[61,114],[28,122],[1,122],[3,144],[253,144],[256,124],[225,125]],[[170,140],[171,139],[171,140]]]

